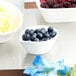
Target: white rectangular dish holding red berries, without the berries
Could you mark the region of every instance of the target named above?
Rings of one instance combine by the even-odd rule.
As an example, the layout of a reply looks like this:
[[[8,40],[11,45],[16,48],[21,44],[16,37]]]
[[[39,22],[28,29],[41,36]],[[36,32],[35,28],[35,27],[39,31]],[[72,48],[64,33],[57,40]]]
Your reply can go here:
[[[36,4],[48,23],[76,22],[76,8],[41,8],[40,0],[36,0]]]

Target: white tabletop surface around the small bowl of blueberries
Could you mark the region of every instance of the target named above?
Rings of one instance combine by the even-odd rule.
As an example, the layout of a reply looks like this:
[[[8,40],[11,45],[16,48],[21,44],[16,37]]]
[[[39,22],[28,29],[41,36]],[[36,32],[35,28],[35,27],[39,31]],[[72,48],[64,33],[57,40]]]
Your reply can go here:
[[[38,9],[25,9],[24,23],[26,26],[48,25]],[[42,55],[47,61],[64,58],[65,64],[73,66],[76,63],[76,23],[51,23],[50,26],[59,30],[58,39],[53,49]],[[27,54],[18,40],[16,33],[8,42],[0,44],[0,69],[23,69],[32,65],[35,55]]]

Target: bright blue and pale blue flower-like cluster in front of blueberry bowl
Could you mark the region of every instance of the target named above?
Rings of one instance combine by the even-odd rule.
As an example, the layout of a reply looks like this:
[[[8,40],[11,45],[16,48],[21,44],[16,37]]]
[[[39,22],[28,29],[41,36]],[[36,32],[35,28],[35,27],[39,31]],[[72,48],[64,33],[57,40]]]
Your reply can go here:
[[[33,60],[33,66],[24,70],[24,74],[30,76],[57,76],[57,73],[61,76],[66,76],[66,72],[70,71],[64,65],[64,59],[57,60],[54,63],[47,62],[40,55],[37,55]]]

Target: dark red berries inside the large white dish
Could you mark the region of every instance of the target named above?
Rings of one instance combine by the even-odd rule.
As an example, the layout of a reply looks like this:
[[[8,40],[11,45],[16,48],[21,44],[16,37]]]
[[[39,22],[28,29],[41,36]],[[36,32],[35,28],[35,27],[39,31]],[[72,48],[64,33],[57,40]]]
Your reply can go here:
[[[75,8],[76,0],[40,0],[42,8]]]

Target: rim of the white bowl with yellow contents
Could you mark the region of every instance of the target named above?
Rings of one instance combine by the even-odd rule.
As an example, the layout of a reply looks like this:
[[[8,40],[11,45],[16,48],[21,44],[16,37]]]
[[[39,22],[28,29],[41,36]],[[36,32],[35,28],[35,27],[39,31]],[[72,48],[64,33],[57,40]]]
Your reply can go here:
[[[14,4],[12,4],[12,3],[10,3],[10,2],[8,2],[8,1],[0,1],[0,3],[1,4],[5,4],[5,5],[10,5],[10,6],[12,6],[18,13],[19,13],[19,15],[20,15],[20,22],[19,22],[19,26],[14,30],[14,31],[8,31],[8,32],[5,32],[5,33],[0,33],[0,35],[7,35],[7,34],[11,34],[11,33],[14,33],[14,32],[16,32],[20,27],[21,27],[21,25],[23,24],[23,15],[22,15],[22,13],[21,13],[21,11],[14,5]]]

